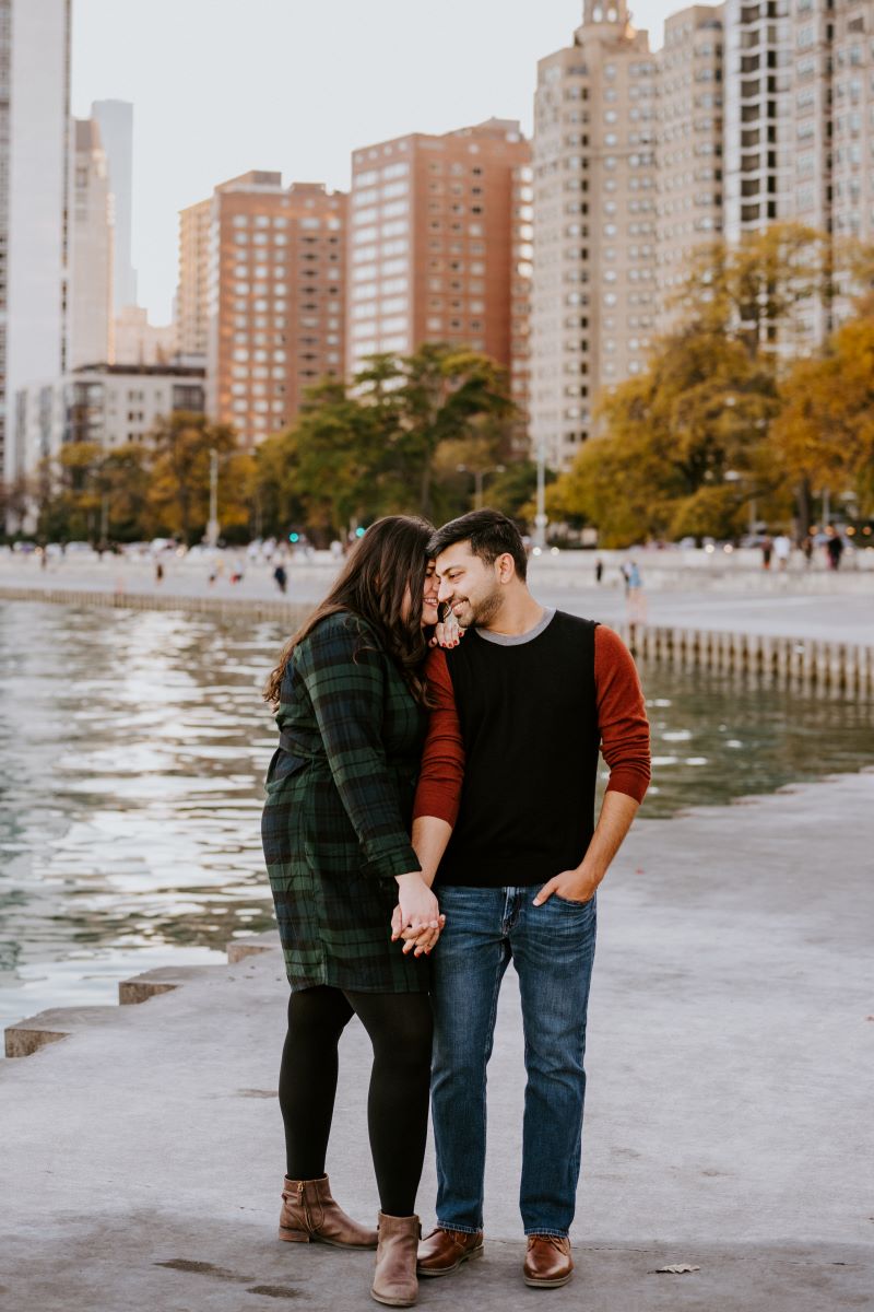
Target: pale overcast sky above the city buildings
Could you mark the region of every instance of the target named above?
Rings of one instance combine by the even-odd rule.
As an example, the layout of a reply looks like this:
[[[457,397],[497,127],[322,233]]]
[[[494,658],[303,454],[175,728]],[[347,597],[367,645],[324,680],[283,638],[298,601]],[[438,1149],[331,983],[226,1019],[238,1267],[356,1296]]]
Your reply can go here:
[[[653,49],[684,0],[633,0]],[[134,104],[139,302],[170,319],[178,210],[248,169],[349,188],[350,154],[491,118],[532,126],[537,59],[582,0],[73,0],[72,108]]]

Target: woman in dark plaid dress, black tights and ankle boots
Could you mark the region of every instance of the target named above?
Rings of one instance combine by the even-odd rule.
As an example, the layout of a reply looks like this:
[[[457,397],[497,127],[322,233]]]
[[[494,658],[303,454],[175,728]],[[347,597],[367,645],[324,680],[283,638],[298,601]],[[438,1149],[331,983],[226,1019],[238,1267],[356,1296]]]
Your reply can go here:
[[[410,846],[427,727],[423,626],[436,581],[421,520],[380,520],[291,639],[265,697],[280,729],[262,837],[291,984],[279,1075],[287,1176],[280,1239],[376,1248],[372,1294],[415,1302],[414,1215],[427,1136],[427,954],[438,903]],[[447,817],[451,819],[451,817]],[[400,904],[410,935],[392,943]],[[325,1155],[337,1044],[358,1015],[373,1044],[368,1128],[379,1233],[333,1200]]]

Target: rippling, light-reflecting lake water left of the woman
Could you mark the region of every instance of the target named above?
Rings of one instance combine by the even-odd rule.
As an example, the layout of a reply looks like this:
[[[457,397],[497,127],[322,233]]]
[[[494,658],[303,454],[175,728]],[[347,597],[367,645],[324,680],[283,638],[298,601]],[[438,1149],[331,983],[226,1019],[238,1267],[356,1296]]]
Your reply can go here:
[[[0,604],[0,1021],[269,929],[274,626]],[[62,962],[67,962],[62,968]],[[88,962],[88,970],[83,968]]]

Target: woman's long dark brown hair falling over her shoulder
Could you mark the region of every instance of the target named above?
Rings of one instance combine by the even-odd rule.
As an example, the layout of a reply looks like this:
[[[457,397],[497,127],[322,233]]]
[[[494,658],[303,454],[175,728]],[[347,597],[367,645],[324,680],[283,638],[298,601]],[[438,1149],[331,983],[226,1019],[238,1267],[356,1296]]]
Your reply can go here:
[[[355,544],[334,586],[312,615],[286,643],[270,674],[263,697],[279,705],[282,680],[291,655],[325,615],[349,611],[372,625],[394,660],[417,702],[427,706],[422,665],[427,644],[422,634],[422,596],[432,525],[405,514],[387,516],[371,525]],[[409,613],[402,615],[409,589]],[[362,646],[366,646],[363,642]]]

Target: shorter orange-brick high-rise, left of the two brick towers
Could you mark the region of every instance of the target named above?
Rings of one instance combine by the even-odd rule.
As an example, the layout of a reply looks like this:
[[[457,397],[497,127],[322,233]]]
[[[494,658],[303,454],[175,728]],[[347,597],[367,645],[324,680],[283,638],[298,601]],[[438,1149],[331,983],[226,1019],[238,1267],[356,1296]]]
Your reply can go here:
[[[346,209],[321,182],[252,172],[211,202],[207,413],[253,446],[345,369]]]

